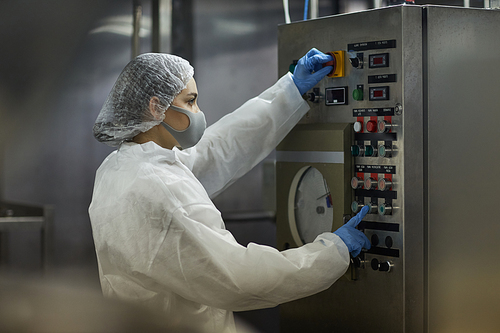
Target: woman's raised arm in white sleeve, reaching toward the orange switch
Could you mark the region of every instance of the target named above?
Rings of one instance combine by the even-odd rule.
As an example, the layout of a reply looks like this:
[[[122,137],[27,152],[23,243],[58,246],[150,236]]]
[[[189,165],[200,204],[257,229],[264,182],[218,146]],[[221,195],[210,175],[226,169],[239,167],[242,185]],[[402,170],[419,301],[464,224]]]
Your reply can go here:
[[[210,126],[193,148],[177,151],[211,197],[247,173],[309,110],[290,73]]]

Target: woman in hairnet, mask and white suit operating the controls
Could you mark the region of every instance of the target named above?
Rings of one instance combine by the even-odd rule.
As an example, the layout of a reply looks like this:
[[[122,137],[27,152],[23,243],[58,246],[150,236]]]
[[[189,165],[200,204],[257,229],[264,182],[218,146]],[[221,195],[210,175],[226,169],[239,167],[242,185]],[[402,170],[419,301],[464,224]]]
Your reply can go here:
[[[144,54],[120,74],[94,126],[119,146],[89,208],[103,292],[161,309],[172,323],[234,332],[232,311],[274,307],[331,286],[370,243],[355,226],[297,249],[239,245],[210,197],[243,176],[309,109],[301,95],[332,68],[312,49],[297,68],[205,130],[193,68]],[[179,149],[182,147],[182,150]]]

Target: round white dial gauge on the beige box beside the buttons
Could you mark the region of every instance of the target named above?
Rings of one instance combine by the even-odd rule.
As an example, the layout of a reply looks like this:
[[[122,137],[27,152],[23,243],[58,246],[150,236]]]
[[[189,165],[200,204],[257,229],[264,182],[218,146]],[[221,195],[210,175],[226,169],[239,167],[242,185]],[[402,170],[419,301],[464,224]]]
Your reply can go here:
[[[332,231],[332,196],[318,169],[307,166],[295,175],[288,198],[288,217],[293,239],[299,246]]]

